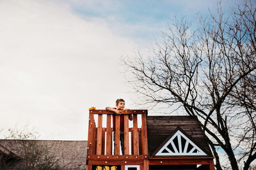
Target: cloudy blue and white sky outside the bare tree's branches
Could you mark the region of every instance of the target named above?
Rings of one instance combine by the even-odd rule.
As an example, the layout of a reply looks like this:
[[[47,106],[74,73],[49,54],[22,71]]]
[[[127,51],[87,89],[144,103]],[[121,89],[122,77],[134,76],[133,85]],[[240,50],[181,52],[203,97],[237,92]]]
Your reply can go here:
[[[223,0],[223,10],[237,3]],[[16,128],[87,140],[88,108],[124,98],[143,109],[122,60],[147,55],[173,17],[193,23],[215,9],[210,0],[0,0],[0,138]]]

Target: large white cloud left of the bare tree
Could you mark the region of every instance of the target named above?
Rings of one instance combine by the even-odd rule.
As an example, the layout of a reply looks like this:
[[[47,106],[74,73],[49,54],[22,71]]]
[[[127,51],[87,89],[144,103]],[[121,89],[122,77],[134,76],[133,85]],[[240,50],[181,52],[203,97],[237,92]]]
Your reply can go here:
[[[120,57],[131,39],[47,1],[0,1],[0,124],[42,139],[87,139],[88,108],[125,93]],[[128,104],[129,107],[129,104]]]

